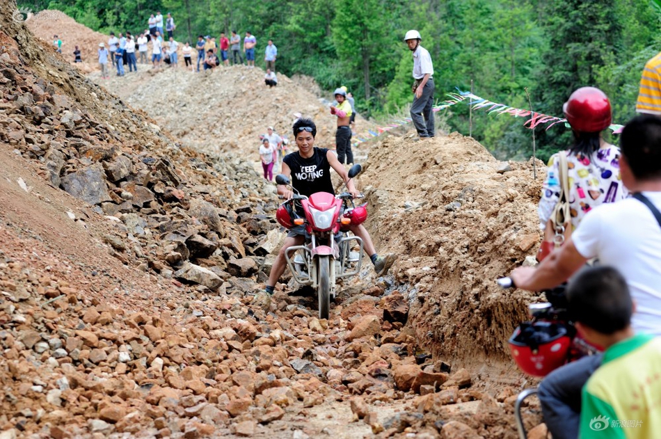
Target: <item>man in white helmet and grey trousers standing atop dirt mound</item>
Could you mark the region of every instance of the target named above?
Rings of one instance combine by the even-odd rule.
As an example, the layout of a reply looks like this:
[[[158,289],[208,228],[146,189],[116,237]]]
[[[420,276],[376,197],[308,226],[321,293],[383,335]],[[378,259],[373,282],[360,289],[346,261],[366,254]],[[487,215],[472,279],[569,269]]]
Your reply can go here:
[[[420,138],[433,137],[433,65],[429,51],[420,45],[418,31],[408,31],[404,36],[408,49],[413,52],[413,105],[411,119]]]

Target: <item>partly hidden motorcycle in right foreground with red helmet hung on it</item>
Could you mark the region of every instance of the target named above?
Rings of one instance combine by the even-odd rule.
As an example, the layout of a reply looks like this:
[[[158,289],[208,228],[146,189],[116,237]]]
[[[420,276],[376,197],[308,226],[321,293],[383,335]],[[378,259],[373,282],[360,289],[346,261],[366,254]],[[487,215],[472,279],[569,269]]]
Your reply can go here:
[[[513,288],[510,278],[497,280],[504,289]],[[567,311],[566,284],[545,291],[548,303],[528,305],[530,321],[524,321],[509,338],[512,358],[526,374],[543,377],[558,367],[601,351],[599,346],[589,344],[574,327]],[[521,417],[521,405],[537,389],[525,389],[518,394],[514,404],[514,419],[520,439],[527,433]]]

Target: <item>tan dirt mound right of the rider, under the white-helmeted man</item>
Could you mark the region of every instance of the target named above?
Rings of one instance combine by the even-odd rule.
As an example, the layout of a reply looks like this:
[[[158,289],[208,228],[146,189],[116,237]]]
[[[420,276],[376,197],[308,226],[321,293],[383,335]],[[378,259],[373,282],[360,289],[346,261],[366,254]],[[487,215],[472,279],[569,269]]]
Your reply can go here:
[[[530,296],[500,291],[495,279],[536,250],[537,168],[534,180],[532,163],[497,161],[456,133],[390,136],[370,150],[360,176],[370,183],[369,225],[401,255],[397,281],[409,289],[413,328],[429,331],[420,340],[441,358],[509,356],[507,338]]]

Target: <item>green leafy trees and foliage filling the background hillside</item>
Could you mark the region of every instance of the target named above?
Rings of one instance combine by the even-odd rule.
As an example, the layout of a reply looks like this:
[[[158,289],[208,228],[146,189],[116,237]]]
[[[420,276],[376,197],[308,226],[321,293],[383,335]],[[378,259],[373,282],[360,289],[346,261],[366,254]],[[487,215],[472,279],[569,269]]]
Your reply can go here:
[[[344,85],[358,111],[384,118],[411,104],[408,29],[422,35],[434,64],[437,101],[456,88],[495,102],[562,115],[575,88],[609,95],[614,121],[633,115],[640,71],[661,42],[661,0],[33,0],[19,6],[63,10],[92,29],[143,31],[150,13],[173,13],[175,38],[257,37],[257,65],[266,40],[278,47],[278,70],[307,74],[325,90]],[[330,97],[330,96],[329,96]],[[532,155],[523,119],[472,112],[459,104],[444,119],[500,159]],[[571,142],[568,129],[538,129],[538,156]]]

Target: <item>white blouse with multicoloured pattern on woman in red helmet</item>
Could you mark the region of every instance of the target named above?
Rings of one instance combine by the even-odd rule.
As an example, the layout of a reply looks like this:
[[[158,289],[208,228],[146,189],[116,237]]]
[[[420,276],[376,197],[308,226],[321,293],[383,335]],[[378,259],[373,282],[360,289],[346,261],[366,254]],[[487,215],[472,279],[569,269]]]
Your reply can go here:
[[[561,151],[548,161],[546,180],[539,200],[539,226],[546,227],[553,208],[557,204],[560,182],[558,154],[568,154],[569,207],[571,225],[575,229],[587,212],[603,202],[616,202],[627,198],[629,192],[620,176],[620,149],[609,145],[590,154],[578,156]]]

